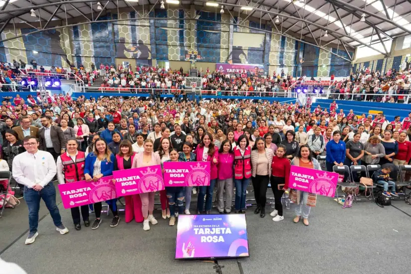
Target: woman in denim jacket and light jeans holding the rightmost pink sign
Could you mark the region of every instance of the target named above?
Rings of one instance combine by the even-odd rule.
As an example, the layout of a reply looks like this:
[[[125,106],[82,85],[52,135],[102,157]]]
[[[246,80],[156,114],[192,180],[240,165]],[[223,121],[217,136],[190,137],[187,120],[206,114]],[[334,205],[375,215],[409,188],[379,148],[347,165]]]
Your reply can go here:
[[[317,159],[311,156],[311,149],[307,144],[300,146],[298,156],[291,160],[291,165],[296,165],[305,168],[321,170],[321,166]],[[311,207],[315,206],[317,195],[301,190],[292,189],[290,193],[291,201],[296,203],[294,223],[298,223],[301,218],[304,225],[308,226],[308,216],[310,215]]]

